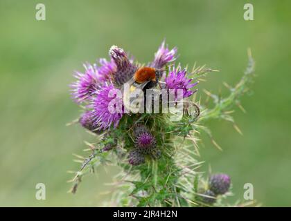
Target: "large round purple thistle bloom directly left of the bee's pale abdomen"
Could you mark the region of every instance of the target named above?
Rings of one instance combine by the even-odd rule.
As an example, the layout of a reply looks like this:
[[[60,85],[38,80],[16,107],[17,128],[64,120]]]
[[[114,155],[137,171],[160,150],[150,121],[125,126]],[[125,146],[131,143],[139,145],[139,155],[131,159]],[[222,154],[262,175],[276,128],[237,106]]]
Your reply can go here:
[[[113,125],[116,128],[123,116],[121,91],[114,88],[112,83],[100,86],[96,96],[91,99],[89,108],[94,126],[107,129]]]

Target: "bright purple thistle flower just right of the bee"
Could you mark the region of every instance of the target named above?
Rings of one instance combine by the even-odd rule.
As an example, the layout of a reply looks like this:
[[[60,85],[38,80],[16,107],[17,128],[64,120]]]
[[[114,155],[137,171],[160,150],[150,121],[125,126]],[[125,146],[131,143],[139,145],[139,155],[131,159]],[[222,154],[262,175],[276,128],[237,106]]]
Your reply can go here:
[[[196,86],[199,81],[191,84],[192,79],[188,79],[186,77],[186,70],[180,70],[180,68],[173,68],[168,73],[168,76],[165,79],[166,88],[175,89],[175,94],[177,93],[177,89],[183,90],[183,97],[190,97],[197,91],[190,90],[193,86]]]

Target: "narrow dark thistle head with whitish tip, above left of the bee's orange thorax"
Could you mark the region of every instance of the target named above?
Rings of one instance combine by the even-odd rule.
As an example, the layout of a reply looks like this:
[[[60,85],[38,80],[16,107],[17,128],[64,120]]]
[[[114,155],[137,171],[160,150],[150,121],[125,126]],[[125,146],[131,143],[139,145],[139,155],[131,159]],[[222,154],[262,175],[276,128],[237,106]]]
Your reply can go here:
[[[116,86],[122,86],[129,81],[137,70],[130,59],[128,59],[125,51],[117,46],[112,46],[109,50],[109,55],[116,64],[116,73],[114,73],[114,83]]]

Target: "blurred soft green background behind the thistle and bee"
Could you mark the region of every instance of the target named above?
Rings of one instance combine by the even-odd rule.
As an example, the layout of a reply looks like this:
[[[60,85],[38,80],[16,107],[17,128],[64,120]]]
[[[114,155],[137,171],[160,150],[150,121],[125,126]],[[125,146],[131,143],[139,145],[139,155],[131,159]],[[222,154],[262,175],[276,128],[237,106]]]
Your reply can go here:
[[[116,169],[85,177],[78,193],[67,193],[77,170],[72,153],[82,154],[80,126],[65,126],[79,108],[69,95],[73,70],[107,57],[112,44],[139,61],[153,58],[162,39],[179,48],[182,64],[207,64],[220,73],[199,85],[217,93],[235,84],[256,59],[247,113],[234,117],[243,136],[227,122],[209,122],[218,151],[208,137],[201,146],[204,170],[229,173],[235,195],[254,184],[264,206],[291,206],[290,36],[291,1],[56,1],[42,0],[46,21],[35,19],[39,1],[0,1],[0,206],[100,206]],[[245,3],[254,21],[243,19]],[[46,200],[35,199],[35,185],[46,184]]]

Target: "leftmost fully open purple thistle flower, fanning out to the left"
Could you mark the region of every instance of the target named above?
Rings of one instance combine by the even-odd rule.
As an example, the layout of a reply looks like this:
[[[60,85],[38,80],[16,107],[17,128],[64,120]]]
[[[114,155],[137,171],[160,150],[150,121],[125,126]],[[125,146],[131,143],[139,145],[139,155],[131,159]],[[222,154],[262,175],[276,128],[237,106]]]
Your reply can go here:
[[[82,103],[95,93],[98,75],[96,68],[91,65],[84,65],[85,73],[76,72],[74,77],[77,81],[71,84],[71,95],[77,103]]]

